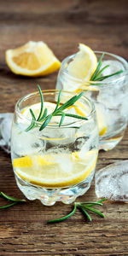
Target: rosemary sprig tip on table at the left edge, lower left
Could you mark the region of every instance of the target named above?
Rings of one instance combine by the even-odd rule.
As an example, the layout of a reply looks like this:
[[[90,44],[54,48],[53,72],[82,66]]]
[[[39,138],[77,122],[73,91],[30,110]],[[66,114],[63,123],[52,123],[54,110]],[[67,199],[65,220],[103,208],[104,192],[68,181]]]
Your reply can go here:
[[[0,209],[5,209],[5,208],[13,207],[14,205],[16,205],[18,203],[26,202],[25,199],[18,199],[18,198],[15,198],[13,196],[6,195],[3,192],[0,192],[0,196],[3,197],[4,199],[8,200],[8,201],[12,201],[12,203],[10,203],[9,205],[0,207]]]

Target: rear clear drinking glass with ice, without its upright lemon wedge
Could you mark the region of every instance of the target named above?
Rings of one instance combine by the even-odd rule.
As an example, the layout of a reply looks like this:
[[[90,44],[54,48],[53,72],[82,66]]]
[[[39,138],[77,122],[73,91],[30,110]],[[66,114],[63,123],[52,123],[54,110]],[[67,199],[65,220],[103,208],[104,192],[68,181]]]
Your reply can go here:
[[[95,52],[97,61],[102,56],[101,51]],[[68,56],[61,63],[56,89],[79,92],[93,100],[96,107],[97,122],[100,135],[100,149],[109,150],[122,139],[128,119],[128,64],[118,55],[105,53],[103,66],[110,65],[103,75],[123,70],[123,73],[109,79],[85,81],[77,79],[68,73],[68,65],[75,55]]]

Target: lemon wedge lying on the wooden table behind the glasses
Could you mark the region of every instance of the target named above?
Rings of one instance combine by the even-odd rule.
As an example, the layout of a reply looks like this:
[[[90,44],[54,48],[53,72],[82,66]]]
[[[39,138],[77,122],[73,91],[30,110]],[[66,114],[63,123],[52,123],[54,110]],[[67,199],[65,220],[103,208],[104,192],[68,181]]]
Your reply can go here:
[[[6,51],[6,61],[13,73],[25,76],[44,76],[55,72],[61,62],[44,42],[28,42]]]

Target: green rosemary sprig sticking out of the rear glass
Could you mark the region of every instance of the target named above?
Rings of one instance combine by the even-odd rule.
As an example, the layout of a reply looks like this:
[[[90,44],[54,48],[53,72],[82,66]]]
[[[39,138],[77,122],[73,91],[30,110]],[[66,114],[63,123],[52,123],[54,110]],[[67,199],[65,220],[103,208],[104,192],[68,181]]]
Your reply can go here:
[[[93,75],[91,76],[90,81],[103,81],[104,79],[108,79],[108,78],[110,78],[110,77],[113,77],[113,76],[118,75],[119,73],[122,73],[122,72],[123,72],[123,70],[121,69],[121,70],[119,70],[119,71],[116,72],[116,73],[111,73],[111,74],[109,74],[109,75],[107,75],[107,76],[102,76],[103,70],[105,70],[106,68],[108,68],[108,67],[110,66],[110,65],[106,65],[105,67],[102,67],[102,59],[103,59],[103,56],[104,56],[104,53],[102,54],[102,56],[101,56],[101,58],[100,58],[100,60],[99,60],[99,62],[98,62],[98,65],[97,65],[97,67],[96,67],[96,71],[95,71],[95,73],[93,73]],[[101,69],[101,67],[102,67],[102,69]],[[93,84],[91,84],[91,85],[93,85]],[[98,85],[99,85],[99,84],[98,84]]]

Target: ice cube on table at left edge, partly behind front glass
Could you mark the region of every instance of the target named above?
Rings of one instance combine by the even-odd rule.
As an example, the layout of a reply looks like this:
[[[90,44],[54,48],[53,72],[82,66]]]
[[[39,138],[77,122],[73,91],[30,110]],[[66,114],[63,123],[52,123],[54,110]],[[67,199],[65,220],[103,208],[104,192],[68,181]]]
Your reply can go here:
[[[10,131],[13,113],[0,113],[0,147],[10,153]]]

